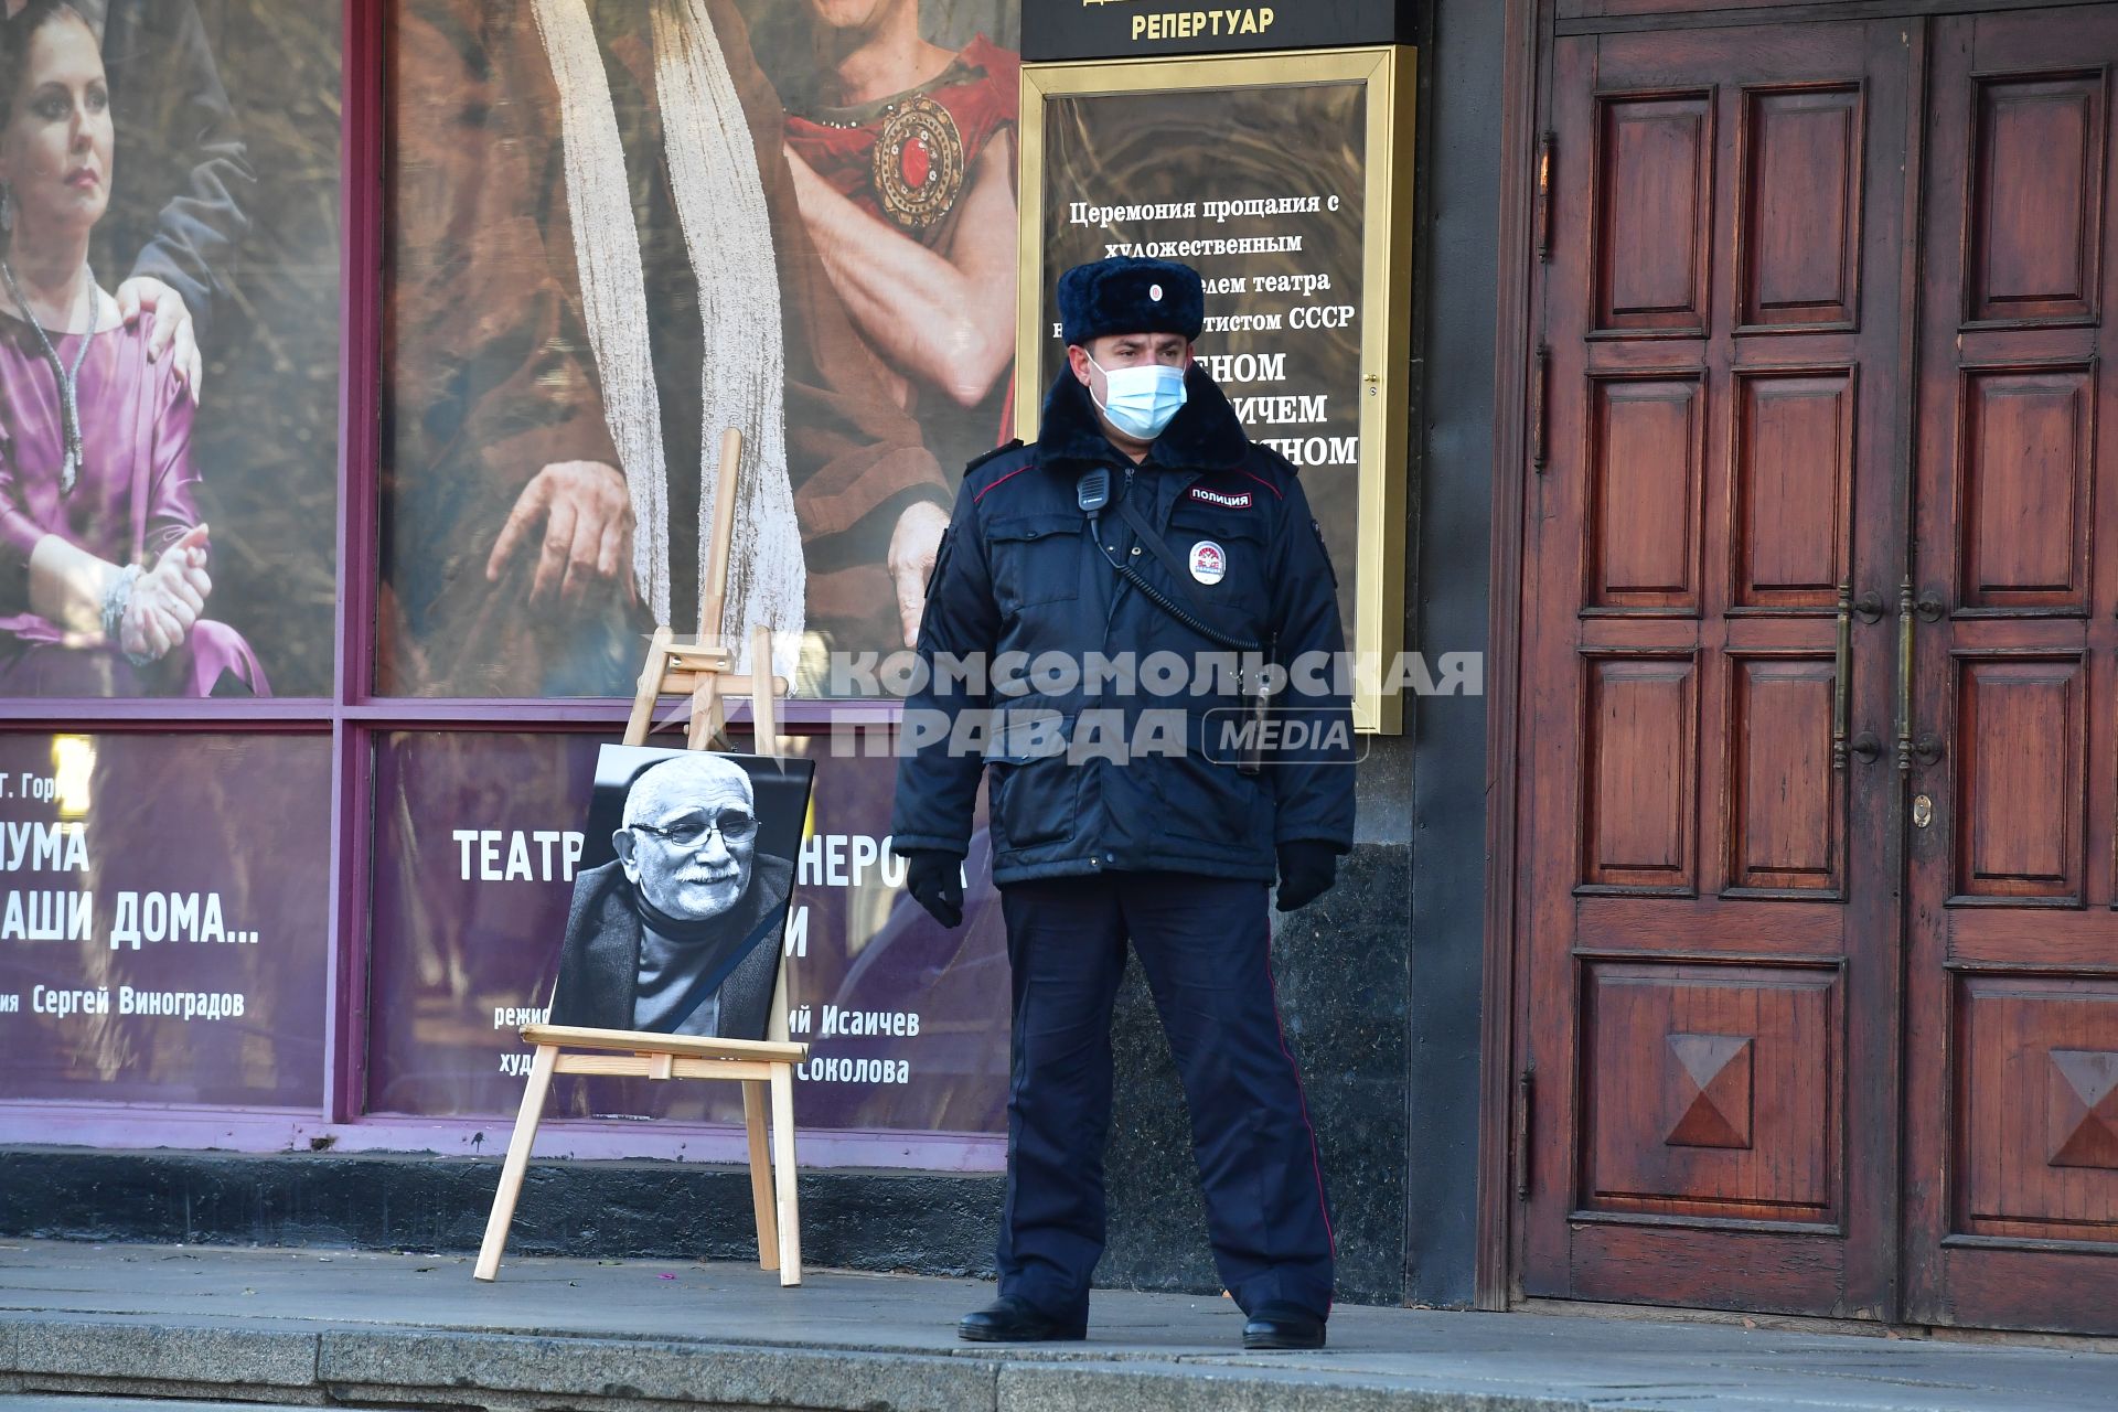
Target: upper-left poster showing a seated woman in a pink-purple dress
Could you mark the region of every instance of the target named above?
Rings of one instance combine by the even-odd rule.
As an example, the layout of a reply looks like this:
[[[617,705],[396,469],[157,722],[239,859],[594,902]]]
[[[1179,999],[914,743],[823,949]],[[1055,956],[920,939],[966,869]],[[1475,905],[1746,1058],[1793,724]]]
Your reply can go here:
[[[6,15],[0,696],[326,696],[341,6]]]

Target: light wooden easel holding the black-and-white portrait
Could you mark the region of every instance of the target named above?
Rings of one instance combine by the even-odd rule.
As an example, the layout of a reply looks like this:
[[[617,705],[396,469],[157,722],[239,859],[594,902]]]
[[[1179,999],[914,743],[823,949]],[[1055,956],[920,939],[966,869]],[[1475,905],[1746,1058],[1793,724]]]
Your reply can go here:
[[[710,749],[724,737],[724,696],[750,696],[756,752],[779,756],[779,696],[786,677],[771,675],[773,637],[765,627],[750,633],[750,673],[735,671],[735,654],[720,639],[720,616],[726,605],[729,548],[735,536],[735,472],[743,438],[726,430],[720,438],[720,481],[714,497],[712,591],[699,614],[699,641],[678,644],[667,627],[654,631],[648,663],[633,694],[633,713],[625,726],[627,745],[646,745],[654,720],[654,701],[663,694],[690,692],[690,749]],[[762,675],[760,675],[762,673]],[[756,1039],[697,1039],[690,1035],[646,1035],[618,1029],[578,1029],[568,1025],[525,1025],[525,1044],[536,1046],[530,1061],[530,1084],[523,1090],[515,1137],[500,1169],[500,1190],[493,1213],[485,1221],[485,1243],[472,1274],[491,1281],[500,1274],[500,1253],[515,1224],[515,1202],[521,1198],[530,1147],[536,1143],[551,1080],[559,1073],[593,1073],[644,1080],[733,1080],[743,1086],[743,1128],[750,1137],[750,1205],[758,1226],[758,1264],[779,1270],[782,1285],[801,1283],[801,1207],[794,1196],[794,1065],[809,1056],[807,1044],[767,1044]],[[589,1052],[574,1052],[589,1050]],[[771,1147],[765,1139],[765,1107],[771,1103]]]

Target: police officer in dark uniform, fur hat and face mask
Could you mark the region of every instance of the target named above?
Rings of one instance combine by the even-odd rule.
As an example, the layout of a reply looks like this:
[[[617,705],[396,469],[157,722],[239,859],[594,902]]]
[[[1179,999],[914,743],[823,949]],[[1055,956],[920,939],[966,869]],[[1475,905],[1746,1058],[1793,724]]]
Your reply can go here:
[[[1015,1006],[1008,1181],[1000,1300],[957,1332],[1084,1338],[1131,940],[1184,1075],[1243,1346],[1320,1348],[1330,1209],[1267,904],[1275,874],[1281,910],[1315,900],[1351,847],[1349,711],[1328,673],[1292,673],[1264,720],[1334,745],[1245,760],[1231,741],[1256,730],[1269,673],[1226,665],[1343,650],[1330,559],[1294,468],[1192,362],[1197,271],[1084,265],[1059,309],[1067,366],[1038,442],[970,466],[936,557],[917,648],[934,671],[907,703],[917,745],[892,821],[913,895],[959,925],[989,777]]]

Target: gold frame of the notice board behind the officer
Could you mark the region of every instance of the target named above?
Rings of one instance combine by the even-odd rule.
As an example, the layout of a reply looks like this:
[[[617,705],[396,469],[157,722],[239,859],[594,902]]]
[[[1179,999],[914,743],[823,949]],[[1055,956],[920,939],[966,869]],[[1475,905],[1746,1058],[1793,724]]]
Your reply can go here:
[[[1383,680],[1404,648],[1404,495],[1413,332],[1413,108],[1408,44],[1273,55],[1025,64],[1015,318],[1015,434],[1034,442],[1044,411],[1044,102],[1360,83],[1368,91],[1362,231],[1360,548],[1353,641]],[[1353,692],[1353,728],[1398,735],[1404,699],[1375,680]]]

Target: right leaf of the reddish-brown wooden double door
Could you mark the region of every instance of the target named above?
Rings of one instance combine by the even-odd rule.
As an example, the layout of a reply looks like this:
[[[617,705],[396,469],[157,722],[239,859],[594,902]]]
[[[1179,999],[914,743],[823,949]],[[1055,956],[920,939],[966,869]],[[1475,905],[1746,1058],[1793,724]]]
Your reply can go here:
[[[1929,47],[1906,1315],[2118,1332],[2118,11]]]

